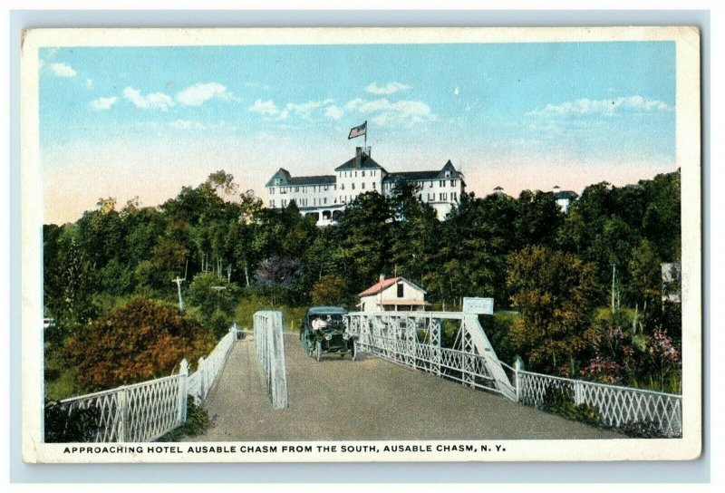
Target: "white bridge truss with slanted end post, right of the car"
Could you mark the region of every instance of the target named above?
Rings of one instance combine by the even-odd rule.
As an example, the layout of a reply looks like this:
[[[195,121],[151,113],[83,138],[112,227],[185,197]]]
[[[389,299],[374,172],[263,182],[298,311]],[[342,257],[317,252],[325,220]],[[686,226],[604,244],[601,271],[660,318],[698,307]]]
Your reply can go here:
[[[516,391],[476,315],[354,312],[346,315],[346,321],[361,351],[516,400]],[[442,344],[447,326],[455,334],[452,347]]]

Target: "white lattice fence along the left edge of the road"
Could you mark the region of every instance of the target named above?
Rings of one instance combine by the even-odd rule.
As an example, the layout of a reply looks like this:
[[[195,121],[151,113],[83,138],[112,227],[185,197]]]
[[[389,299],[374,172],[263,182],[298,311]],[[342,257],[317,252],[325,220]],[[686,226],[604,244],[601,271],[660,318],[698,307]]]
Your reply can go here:
[[[89,408],[98,409],[95,442],[151,441],[187,419],[187,395],[195,401],[207,396],[237,338],[237,325],[217,344],[196,372],[189,375],[189,363],[182,360],[179,373],[147,382],[123,385],[61,401],[69,415]]]

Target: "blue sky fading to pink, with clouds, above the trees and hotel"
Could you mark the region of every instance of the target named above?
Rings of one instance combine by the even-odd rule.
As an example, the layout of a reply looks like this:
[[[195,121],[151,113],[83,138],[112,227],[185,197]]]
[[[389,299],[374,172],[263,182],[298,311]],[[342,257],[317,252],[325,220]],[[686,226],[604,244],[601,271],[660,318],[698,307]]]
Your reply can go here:
[[[580,192],[675,169],[674,43],[43,48],[45,220],[144,205],[226,169],[264,196],[284,167],[330,174],[362,138],[389,171],[462,167]],[[74,179],[67,179],[73,176]]]

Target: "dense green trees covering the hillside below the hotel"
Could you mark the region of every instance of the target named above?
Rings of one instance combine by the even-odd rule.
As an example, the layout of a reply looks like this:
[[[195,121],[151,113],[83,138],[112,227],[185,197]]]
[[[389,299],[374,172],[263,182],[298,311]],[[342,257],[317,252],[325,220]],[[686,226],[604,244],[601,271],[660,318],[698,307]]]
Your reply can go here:
[[[620,383],[662,383],[679,364],[679,304],[662,299],[662,263],[681,256],[679,171],[591,185],[566,213],[551,192],[462,194],[444,221],[399,183],[391,197],[360,195],[322,228],[294,201],[265,208],[238,189],[218,171],[158,207],[106,201],[74,223],[44,225],[54,337],[138,296],[176,303],[176,277],[189,312],[218,335],[240,298],[353,308],[386,274],[422,285],[438,308],[494,298],[502,313],[483,322],[502,360]],[[647,354],[669,358],[666,375],[638,367]]]

